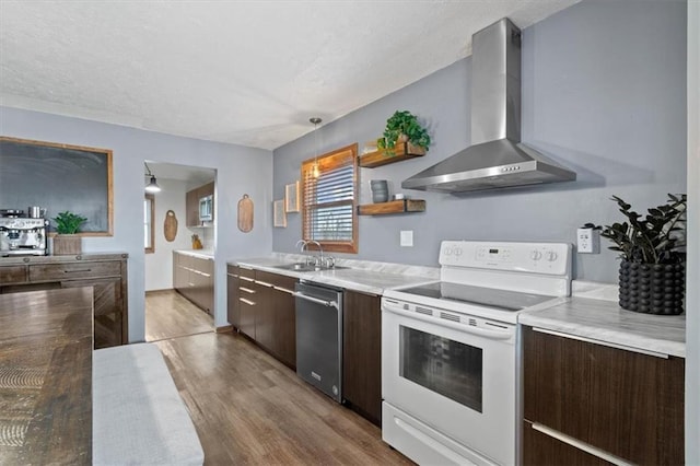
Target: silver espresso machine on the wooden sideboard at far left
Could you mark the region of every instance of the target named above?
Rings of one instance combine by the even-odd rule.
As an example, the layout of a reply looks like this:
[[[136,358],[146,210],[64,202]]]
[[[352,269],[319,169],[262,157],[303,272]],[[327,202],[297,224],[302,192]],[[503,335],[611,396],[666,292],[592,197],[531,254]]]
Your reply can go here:
[[[47,232],[48,220],[43,217],[30,217],[15,209],[0,210],[0,256],[47,255]]]

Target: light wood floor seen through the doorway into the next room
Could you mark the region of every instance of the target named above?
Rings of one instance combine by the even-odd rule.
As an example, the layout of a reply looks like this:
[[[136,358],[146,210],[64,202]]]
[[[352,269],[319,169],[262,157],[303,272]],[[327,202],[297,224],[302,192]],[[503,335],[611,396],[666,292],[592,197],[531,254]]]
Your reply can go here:
[[[213,318],[174,290],[145,294],[145,341],[213,331]]]

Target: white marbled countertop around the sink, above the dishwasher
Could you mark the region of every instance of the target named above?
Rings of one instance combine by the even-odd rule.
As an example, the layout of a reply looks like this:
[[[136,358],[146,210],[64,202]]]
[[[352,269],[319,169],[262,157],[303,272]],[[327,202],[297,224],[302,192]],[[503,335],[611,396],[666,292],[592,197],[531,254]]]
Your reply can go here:
[[[384,294],[384,290],[438,280],[438,273],[428,267],[404,266],[401,269],[398,265],[357,260],[352,261],[351,268],[346,269],[300,272],[276,268],[294,261],[293,258],[276,255],[233,260],[230,264],[377,295]],[[346,263],[338,265],[348,266]]]

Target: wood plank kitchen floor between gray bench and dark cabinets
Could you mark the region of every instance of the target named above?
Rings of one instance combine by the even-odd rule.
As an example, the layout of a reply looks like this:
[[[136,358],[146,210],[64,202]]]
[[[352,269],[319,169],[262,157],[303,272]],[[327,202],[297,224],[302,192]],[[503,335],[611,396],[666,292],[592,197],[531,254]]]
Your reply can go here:
[[[377,427],[238,334],[158,341],[207,465],[407,465]]]

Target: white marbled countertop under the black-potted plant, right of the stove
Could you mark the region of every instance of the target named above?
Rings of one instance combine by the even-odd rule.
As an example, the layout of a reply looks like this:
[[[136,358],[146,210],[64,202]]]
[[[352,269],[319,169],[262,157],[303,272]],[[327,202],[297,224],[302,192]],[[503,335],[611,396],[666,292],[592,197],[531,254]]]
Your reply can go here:
[[[617,301],[574,295],[562,304],[523,313],[518,323],[583,337],[600,345],[686,357],[685,314],[641,314],[621,308]]]

